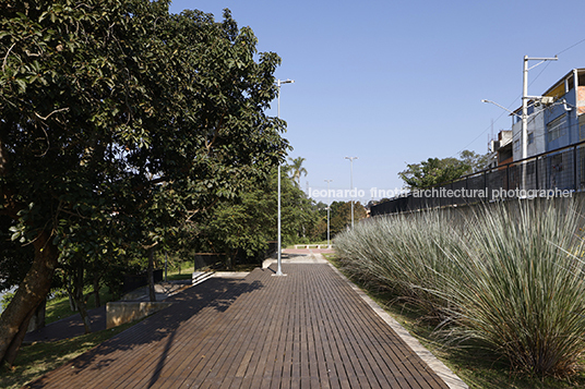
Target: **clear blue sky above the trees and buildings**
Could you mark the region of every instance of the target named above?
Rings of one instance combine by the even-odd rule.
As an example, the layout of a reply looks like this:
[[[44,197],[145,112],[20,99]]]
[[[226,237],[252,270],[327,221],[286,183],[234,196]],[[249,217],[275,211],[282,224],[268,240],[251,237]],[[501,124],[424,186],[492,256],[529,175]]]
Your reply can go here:
[[[280,56],[276,77],[295,80],[282,87],[280,117],[290,157],[307,159],[303,190],[326,189],[325,179],[349,189],[344,157],[357,156],[362,203],[372,187],[401,189],[407,162],[485,154],[491,121],[497,134],[511,118],[480,100],[520,107],[525,54],[559,54],[530,70],[529,95],[585,68],[583,0],[177,0],[170,10],[220,21],[225,8],[254,31],[259,51]]]

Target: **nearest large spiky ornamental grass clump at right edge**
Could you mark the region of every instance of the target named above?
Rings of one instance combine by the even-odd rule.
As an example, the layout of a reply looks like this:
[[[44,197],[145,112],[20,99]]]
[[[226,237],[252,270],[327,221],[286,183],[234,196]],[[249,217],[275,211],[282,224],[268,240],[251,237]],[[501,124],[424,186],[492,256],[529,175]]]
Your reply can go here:
[[[482,208],[461,277],[445,278],[453,335],[474,338],[538,375],[571,373],[585,351],[584,224],[573,202]]]

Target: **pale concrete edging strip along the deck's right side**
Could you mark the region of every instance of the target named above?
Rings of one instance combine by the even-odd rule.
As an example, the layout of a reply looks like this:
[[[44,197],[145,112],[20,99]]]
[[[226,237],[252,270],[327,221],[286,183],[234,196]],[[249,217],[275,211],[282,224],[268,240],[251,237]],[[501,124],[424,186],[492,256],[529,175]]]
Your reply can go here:
[[[453,370],[445,366],[444,363],[439,361],[429,350],[427,350],[418,339],[413,337],[398,321],[396,321],[387,312],[385,312],[378,303],[375,303],[368,294],[366,294],[361,289],[359,289],[354,282],[351,282],[347,277],[345,277],[333,264],[327,260],[327,264],[333,268],[333,270],[342,277],[342,279],[347,282],[356,293],[380,316],[405,342],[413,349],[415,353],[429,367],[437,373],[445,384],[452,389],[468,389],[469,387],[465,384]]]

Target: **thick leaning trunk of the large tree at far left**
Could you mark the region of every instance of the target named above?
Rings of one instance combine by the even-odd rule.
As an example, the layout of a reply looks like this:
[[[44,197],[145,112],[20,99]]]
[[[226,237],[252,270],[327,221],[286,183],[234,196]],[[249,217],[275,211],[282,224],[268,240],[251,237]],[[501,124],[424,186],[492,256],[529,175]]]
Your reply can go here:
[[[50,233],[43,231],[34,241],[35,259],[33,265],[7,309],[0,316],[0,362],[4,361],[9,348],[17,351],[24,335],[20,341],[16,335],[21,330],[26,332],[31,316],[49,293],[52,275],[59,258],[59,251],[51,244],[50,239]],[[14,344],[11,347],[13,341]],[[7,362],[11,365],[10,361]]]

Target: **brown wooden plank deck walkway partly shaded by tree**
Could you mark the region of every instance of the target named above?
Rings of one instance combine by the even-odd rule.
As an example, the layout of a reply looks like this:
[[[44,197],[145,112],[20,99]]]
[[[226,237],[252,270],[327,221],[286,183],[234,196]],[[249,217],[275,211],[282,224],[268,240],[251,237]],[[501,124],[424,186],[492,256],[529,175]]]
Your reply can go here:
[[[29,388],[447,388],[327,264],[211,279]]]

